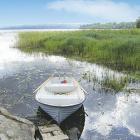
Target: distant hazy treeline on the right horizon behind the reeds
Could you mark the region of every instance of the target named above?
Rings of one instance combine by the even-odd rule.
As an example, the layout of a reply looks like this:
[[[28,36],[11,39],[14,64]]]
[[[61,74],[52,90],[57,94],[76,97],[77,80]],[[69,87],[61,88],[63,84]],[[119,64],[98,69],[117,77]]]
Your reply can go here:
[[[81,25],[81,29],[133,29],[136,28],[136,22],[120,22],[120,23],[94,23]]]

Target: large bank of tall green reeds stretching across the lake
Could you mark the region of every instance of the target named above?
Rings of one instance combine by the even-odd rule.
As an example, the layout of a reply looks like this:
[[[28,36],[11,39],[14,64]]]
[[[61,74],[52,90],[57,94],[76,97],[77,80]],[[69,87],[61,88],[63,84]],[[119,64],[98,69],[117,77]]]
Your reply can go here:
[[[20,33],[17,47],[95,62],[112,69],[140,71],[140,30],[83,30]]]

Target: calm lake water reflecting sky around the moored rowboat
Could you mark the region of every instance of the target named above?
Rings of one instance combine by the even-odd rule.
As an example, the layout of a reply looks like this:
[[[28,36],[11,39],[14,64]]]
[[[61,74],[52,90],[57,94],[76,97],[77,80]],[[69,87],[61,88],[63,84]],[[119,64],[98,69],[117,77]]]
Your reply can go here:
[[[62,123],[64,132],[72,139],[78,134],[81,140],[140,139],[140,93],[115,94],[89,78],[120,78],[122,73],[60,56],[25,54],[13,48],[17,39],[16,32],[0,33],[0,106],[36,123],[54,123],[40,110],[33,91],[56,71],[72,73],[89,95],[84,106]],[[128,86],[140,88],[140,83],[132,81]]]

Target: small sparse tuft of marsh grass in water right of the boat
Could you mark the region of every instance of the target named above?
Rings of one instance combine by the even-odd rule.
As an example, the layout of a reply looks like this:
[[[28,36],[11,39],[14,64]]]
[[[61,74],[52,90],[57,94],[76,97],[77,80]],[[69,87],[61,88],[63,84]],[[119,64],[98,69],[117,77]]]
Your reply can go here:
[[[97,88],[100,87],[106,91],[113,91],[115,93],[122,91],[130,81],[130,77],[127,75],[116,77],[115,74],[110,75],[109,73],[105,73],[102,75],[102,78],[99,78],[89,71],[83,73],[82,79],[88,83],[93,83],[94,88],[97,85]]]

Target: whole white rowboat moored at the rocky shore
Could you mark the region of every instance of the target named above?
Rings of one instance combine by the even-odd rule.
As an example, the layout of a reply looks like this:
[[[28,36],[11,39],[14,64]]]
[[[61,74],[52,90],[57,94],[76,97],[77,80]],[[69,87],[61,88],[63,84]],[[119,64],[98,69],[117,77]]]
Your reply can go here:
[[[72,77],[50,77],[36,92],[39,106],[60,124],[82,106],[86,91]]]

